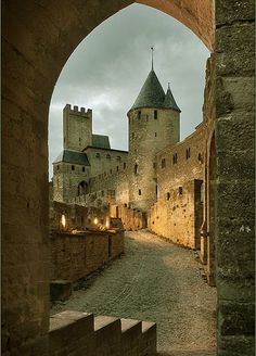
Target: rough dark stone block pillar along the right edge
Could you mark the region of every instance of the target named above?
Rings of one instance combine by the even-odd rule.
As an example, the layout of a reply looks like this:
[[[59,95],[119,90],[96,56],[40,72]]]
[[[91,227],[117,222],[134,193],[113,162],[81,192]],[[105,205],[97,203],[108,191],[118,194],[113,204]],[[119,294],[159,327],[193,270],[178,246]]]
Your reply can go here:
[[[254,355],[255,1],[216,1],[218,355]]]

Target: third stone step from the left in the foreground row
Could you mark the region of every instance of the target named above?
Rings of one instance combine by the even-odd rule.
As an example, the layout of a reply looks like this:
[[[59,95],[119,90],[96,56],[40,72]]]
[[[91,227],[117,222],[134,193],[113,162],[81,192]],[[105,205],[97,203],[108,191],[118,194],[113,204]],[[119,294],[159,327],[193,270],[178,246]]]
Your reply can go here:
[[[140,356],[142,321],[135,319],[120,319],[121,323],[121,356]]]

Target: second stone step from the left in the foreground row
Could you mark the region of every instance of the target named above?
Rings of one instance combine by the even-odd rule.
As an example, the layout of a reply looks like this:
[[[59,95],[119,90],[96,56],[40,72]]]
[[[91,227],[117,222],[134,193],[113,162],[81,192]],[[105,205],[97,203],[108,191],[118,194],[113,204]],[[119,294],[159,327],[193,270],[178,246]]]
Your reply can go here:
[[[120,319],[107,316],[94,318],[95,356],[120,356]]]

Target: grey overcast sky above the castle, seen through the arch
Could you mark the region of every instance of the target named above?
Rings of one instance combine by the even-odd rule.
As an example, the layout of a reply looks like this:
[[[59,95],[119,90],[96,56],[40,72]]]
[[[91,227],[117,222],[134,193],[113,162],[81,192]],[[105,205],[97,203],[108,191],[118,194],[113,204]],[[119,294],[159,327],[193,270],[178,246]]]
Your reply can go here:
[[[113,149],[127,150],[127,112],[151,71],[164,88],[170,82],[181,110],[181,139],[202,120],[204,43],[175,18],[132,4],[107,18],[72,53],[56,81],[49,115],[49,176],[63,150],[62,110],[65,104],[92,109],[93,134],[110,136]]]

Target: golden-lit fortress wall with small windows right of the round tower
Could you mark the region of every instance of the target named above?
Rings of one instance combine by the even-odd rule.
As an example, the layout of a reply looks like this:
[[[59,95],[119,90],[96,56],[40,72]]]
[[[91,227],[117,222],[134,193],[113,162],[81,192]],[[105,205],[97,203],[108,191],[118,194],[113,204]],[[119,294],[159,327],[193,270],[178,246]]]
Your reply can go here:
[[[149,213],[152,232],[192,249],[200,247],[203,223],[204,147],[201,124],[184,141],[156,154],[158,199]]]

